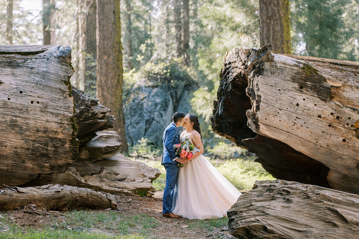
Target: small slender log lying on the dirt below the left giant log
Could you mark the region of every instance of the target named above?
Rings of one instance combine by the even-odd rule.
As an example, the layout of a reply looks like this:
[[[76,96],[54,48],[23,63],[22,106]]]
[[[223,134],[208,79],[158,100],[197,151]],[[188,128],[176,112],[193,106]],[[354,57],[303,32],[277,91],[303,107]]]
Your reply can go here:
[[[115,209],[115,197],[88,188],[61,185],[11,187],[0,190],[0,210],[22,209],[35,204],[37,209],[66,211],[69,208]]]

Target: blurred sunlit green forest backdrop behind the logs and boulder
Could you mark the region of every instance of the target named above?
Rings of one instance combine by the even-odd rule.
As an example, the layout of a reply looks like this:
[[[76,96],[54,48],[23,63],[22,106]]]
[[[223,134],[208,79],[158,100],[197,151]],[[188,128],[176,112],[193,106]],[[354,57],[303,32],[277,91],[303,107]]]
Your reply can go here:
[[[358,61],[359,0],[287,2],[291,54]],[[210,116],[225,52],[260,47],[258,0],[123,0],[120,9],[123,102],[143,72],[189,75],[199,86],[191,113],[201,117],[206,150],[242,152],[211,131]],[[0,0],[0,10],[0,44],[71,46],[71,83],[98,97],[95,0]],[[129,146],[160,154],[158,145],[142,139]]]

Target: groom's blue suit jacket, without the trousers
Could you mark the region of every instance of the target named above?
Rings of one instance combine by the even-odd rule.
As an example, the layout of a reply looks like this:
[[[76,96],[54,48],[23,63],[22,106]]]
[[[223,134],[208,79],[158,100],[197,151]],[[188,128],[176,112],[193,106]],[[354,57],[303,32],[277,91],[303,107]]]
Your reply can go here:
[[[174,154],[173,144],[180,143],[180,131],[178,131],[177,126],[172,122],[167,126],[163,132],[163,156],[162,156],[162,165],[164,163],[175,163],[173,159],[178,156]]]

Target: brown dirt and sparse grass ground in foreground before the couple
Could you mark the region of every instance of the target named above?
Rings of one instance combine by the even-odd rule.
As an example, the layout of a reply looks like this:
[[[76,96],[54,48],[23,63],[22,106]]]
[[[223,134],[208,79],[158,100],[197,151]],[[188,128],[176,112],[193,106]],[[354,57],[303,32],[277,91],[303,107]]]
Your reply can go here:
[[[153,197],[115,195],[115,210],[0,214],[0,238],[235,238],[228,218],[172,219],[162,216],[162,191]]]

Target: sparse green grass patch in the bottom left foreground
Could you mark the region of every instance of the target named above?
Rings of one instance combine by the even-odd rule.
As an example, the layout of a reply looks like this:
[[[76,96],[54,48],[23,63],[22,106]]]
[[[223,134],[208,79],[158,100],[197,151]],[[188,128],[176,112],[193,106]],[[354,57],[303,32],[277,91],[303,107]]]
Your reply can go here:
[[[0,226],[7,226],[7,232],[0,234],[0,239],[42,239],[42,238],[79,238],[79,239],[142,239],[152,234],[152,228],[158,226],[158,221],[145,214],[124,215],[118,212],[99,211],[70,211],[59,218],[42,226],[39,230],[25,228],[11,223],[6,214],[1,214]],[[90,233],[81,228],[93,228],[116,234]]]

